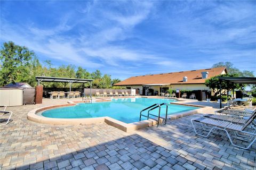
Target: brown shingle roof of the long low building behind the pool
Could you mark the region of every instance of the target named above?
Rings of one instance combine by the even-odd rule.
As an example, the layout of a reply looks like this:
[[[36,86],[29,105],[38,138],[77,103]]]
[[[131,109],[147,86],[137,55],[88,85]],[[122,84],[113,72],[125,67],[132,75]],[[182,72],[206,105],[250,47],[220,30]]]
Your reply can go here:
[[[209,72],[207,79],[221,74],[226,71],[226,67],[217,67],[212,69],[201,69],[191,71],[181,71],[164,74],[151,74],[151,75],[140,75],[136,77],[130,77],[119,83],[114,84],[115,86],[124,85],[142,85],[142,84],[197,84],[204,83],[206,79],[202,79],[201,72]],[[187,77],[188,81],[183,82],[183,77]]]

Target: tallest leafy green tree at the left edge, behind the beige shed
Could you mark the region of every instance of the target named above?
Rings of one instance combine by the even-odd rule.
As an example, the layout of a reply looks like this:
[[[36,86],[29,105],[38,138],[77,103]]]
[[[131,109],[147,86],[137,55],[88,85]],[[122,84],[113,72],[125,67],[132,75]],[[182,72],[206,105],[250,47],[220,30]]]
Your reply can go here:
[[[35,53],[27,47],[15,45],[12,41],[4,43],[1,47],[0,85],[26,80],[29,77],[30,60]]]

